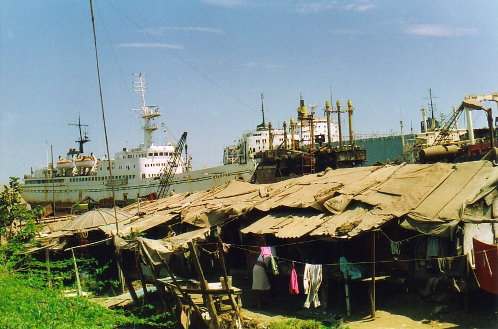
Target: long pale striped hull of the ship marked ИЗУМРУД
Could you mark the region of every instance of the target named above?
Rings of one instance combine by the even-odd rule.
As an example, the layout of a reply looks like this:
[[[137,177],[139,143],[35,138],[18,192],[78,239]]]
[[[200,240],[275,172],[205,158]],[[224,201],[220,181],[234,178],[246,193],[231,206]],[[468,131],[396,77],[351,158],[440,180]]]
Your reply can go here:
[[[221,185],[229,180],[250,181],[256,168],[255,162],[246,165],[220,165],[201,170],[177,173],[169,191],[174,193],[202,191]],[[53,186],[52,186],[53,185]],[[122,178],[114,179],[116,202],[120,205],[134,202],[137,196],[144,197],[157,191],[159,179]],[[70,208],[89,200],[101,204],[113,202],[113,188],[109,181],[98,181],[96,176],[66,176],[46,178],[42,183],[24,184],[22,197],[32,206],[46,206],[55,200],[55,206]]]

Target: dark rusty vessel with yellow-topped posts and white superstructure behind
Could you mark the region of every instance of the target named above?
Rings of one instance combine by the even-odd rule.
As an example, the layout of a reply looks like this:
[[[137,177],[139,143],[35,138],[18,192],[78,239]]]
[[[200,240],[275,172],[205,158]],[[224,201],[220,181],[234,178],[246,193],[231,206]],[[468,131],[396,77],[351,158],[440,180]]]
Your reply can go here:
[[[314,108],[308,112],[304,100],[300,99],[297,108],[297,121],[290,118],[289,129],[283,122],[283,129],[273,129],[271,123],[264,122],[256,130],[245,132],[236,145],[227,146],[223,150],[224,164],[245,164],[255,160],[258,167],[254,172],[254,181],[258,183],[273,183],[289,177],[315,173],[326,168],[344,168],[360,166],[366,160],[365,149],[355,145],[350,138],[349,145],[334,147],[333,141],[340,140],[340,120],[334,122],[326,102],[327,119],[315,118]],[[350,135],[352,133],[351,102],[348,102]],[[263,112],[264,113],[264,112]],[[339,117],[340,119],[340,117]]]

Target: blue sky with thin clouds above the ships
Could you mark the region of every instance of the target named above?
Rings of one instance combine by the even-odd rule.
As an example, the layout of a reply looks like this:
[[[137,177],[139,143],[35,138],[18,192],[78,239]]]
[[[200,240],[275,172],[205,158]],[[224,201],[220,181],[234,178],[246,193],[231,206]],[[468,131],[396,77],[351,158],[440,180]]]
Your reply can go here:
[[[466,94],[498,91],[496,0],[94,0],[111,157],[143,142],[135,73],[194,169],[261,122],[296,118],[300,95],[354,107],[355,134],[420,132],[420,109],[449,115]],[[89,1],[2,0],[0,182],[77,148],[81,122],[106,154]],[[492,107],[495,116],[497,107]],[[344,118],[344,117],[343,117]],[[476,127],[486,125],[474,114]],[[347,123],[346,123],[347,124]],[[463,125],[463,122],[461,123]],[[163,129],[155,141],[169,140]],[[368,156],[368,155],[367,155]]]

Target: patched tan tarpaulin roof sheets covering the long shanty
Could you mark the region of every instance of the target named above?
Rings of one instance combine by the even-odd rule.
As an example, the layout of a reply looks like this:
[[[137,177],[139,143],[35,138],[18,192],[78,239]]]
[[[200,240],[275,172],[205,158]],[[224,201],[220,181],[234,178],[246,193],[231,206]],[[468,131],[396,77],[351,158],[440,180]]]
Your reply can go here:
[[[350,238],[400,218],[407,229],[444,236],[461,220],[492,220],[466,206],[481,198],[491,204],[497,182],[498,168],[489,161],[328,169],[273,184],[232,180],[143,204],[145,215],[126,227],[178,218],[207,228],[258,210],[267,214],[243,233]]]

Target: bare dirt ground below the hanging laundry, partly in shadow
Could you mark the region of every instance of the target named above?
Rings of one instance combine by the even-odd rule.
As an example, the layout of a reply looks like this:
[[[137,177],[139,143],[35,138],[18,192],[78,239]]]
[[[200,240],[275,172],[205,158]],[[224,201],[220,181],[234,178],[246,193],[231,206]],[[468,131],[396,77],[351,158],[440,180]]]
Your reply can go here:
[[[244,290],[243,314],[262,326],[284,317],[323,322],[334,314],[341,316],[345,327],[350,329],[498,328],[498,296],[483,290],[469,293],[469,312],[465,312],[461,294],[449,294],[442,302],[436,303],[423,298],[416,290],[408,291],[397,284],[379,284],[376,288],[375,319],[372,319],[367,291],[363,286],[350,286],[351,315],[347,316],[344,285],[341,283],[329,287],[326,310],[305,309],[306,295],[289,294],[288,282],[273,283],[272,304],[263,296],[261,308],[256,307],[249,278],[234,276],[233,285]]]

